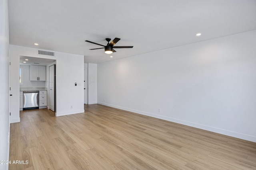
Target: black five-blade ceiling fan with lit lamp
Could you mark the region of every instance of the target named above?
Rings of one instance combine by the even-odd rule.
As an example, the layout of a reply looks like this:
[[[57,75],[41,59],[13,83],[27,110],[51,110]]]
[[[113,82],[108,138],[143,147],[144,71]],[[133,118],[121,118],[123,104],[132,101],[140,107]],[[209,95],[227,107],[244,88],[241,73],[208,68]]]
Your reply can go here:
[[[101,44],[94,43],[94,42],[88,41],[88,40],[86,40],[86,42],[103,46],[102,48],[97,48],[97,49],[105,49],[105,53],[107,53],[107,54],[116,52],[116,50],[114,50],[114,48],[122,49],[122,48],[132,48],[133,47],[133,46],[114,46],[120,40],[120,38],[115,38],[115,39],[113,39],[113,41],[111,41],[111,43],[109,43],[110,40],[111,40],[110,38],[106,38],[106,41],[108,41],[107,45],[101,45]],[[96,50],[96,49],[90,49],[90,50]]]

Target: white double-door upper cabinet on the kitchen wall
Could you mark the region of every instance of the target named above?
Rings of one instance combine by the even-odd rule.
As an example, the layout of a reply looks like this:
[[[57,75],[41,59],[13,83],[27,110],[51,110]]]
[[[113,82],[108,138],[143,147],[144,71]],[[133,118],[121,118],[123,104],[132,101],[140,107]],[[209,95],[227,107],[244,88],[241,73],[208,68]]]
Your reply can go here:
[[[30,81],[45,81],[45,66],[30,66]]]

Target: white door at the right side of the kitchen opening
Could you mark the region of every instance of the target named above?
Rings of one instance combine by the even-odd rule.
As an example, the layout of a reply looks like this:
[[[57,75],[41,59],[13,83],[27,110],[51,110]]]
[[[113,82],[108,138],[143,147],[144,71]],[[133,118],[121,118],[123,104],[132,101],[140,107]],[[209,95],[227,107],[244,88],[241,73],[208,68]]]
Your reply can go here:
[[[49,107],[55,111],[55,65],[49,67]]]

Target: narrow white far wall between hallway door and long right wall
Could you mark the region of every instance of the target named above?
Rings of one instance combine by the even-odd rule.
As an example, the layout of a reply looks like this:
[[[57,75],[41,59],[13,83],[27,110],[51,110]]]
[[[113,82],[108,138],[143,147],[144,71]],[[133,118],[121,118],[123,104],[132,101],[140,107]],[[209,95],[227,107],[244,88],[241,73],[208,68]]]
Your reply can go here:
[[[97,64],[88,63],[88,104],[97,103]]]

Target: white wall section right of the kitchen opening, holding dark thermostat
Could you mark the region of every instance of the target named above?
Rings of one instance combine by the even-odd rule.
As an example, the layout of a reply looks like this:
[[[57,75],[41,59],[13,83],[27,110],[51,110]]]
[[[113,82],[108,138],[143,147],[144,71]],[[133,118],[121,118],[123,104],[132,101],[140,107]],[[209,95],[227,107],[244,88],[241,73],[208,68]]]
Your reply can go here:
[[[84,56],[56,52],[56,58],[56,116],[83,113]]]

